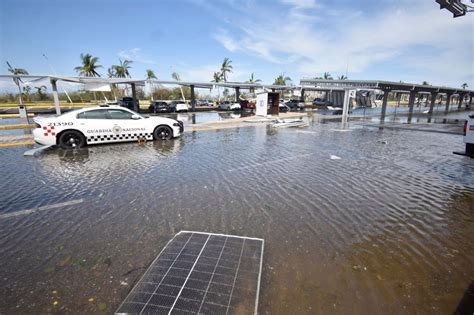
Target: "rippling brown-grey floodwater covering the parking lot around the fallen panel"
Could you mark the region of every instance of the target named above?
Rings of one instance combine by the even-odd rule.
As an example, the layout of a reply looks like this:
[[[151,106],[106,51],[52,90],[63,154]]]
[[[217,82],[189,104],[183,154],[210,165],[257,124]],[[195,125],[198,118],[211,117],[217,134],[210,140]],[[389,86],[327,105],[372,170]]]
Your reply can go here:
[[[451,134],[311,121],[0,150],[0,313],[110,313],[180,230],[265,239],[261,314],[452,313],[474,160]]]

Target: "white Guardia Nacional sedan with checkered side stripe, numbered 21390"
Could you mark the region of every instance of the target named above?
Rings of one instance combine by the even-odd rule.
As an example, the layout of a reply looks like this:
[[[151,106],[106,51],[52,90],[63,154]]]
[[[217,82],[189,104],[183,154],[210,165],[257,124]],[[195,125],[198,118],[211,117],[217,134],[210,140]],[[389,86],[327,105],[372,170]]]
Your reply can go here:
[[[144,117],[120,106],[96,106],[55,117],[34,118],[35,142],[62,148],[140,140],[169,140],[183,133],[183,123],[164,117]]]

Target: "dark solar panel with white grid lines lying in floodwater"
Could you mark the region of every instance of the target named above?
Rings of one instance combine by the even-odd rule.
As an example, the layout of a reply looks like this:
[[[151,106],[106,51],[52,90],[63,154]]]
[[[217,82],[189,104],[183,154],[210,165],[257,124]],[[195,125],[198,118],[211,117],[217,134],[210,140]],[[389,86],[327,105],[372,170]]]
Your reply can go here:
[[[116,314],[256,314],[264,241],[181,231]]]

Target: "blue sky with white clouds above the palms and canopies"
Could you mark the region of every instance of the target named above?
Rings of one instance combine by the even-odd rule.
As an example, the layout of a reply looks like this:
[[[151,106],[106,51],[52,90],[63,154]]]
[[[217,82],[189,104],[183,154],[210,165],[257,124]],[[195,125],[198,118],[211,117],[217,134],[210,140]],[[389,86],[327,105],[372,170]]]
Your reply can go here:
[[[474,14],[453,19],[434,0],[0,1],[0,73],[8,60],[51,74],[45,54],[58,74],[75,75],[80,53],[99,57],[103,75],[131,59],[134,78],[152,69],[210,81],[229,57],[234,81],[347,71],[474,88]]]

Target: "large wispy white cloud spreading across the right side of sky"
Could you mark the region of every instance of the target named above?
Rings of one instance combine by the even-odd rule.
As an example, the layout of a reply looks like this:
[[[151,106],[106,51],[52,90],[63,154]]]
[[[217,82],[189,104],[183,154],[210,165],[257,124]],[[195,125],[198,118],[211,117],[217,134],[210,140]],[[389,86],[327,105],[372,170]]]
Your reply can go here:
[[[323,10],[310,0],[281,2],[290,7],[282,18],[262,18],[263,9],[254,10],[214,38],[231,52],[294,65],[301,75],[345,73],[348,63],[350,73],[363,74],[382,62],[397,62],[410,72],[407,76],[422,70],[420,76],[431,81],[449,77],[446,84],[470,79],[474,85],[474,27],[469,16],[453,19],[422,1],[402,1],[398,8],[392,5],[373,13],[344,7]],[[316,16],[331,16],[311,19],[307,9],[320,12]]]

